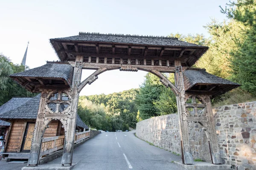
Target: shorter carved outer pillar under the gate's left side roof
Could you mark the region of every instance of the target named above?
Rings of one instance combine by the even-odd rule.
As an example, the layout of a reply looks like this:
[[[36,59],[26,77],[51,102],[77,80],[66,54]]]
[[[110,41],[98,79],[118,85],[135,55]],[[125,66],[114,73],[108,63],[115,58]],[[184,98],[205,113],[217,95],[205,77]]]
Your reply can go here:
[[[33,136],[33,141],[32,141],[31,150],[29,154],[29,160],[28,160],[28,165],[32,165],[32,166],[38,165],[42,136],[44,133],[44,128],[46,126],[44,124],[44,116],[46,112],[45,105],[46,105],[47,94],[48,94],[47,91],[41,93],[41,98],[40,98],[40,103],[38,108],[38,116],[35,122],[34,136]]]

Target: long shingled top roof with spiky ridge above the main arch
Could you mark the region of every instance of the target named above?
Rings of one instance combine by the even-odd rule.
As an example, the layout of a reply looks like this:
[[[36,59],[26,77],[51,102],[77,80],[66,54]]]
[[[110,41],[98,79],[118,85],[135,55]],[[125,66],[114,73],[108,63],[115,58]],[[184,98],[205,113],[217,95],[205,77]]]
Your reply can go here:
[[[203,47],[202,45],[183,42],[175,37],[155,37],[155,36],[138,36],[124,34],[99,34],[84,33],[79,35],[63,38],[53,38],[52,40],[72,40],[72,41],[91,41],[91,42],[116,42],[141,45],[161,45],[161,46],[183,46],[183,47]]]

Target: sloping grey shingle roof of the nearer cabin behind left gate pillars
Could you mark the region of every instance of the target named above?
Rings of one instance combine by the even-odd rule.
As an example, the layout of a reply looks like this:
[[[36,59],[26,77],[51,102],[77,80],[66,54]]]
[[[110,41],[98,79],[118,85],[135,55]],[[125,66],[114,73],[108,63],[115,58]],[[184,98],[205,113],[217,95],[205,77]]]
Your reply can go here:
[[[12,109],[12,110],[2,113],[0,115],[0,119],[36,119],[37,114],[38,114],[40,96],[41,95],[38,94],[37,96],[35,96],[33,98],[28,98],[28,100],[26,102],[19,105],[15,109]],[[12,99],[15,99],[15,98],[12,98]],[[10,107],[12,107],[12,106],[15,107],[16,100],[12,100],[12,99],[9,100],[8,105]],[[20,98],[18,98],[18,99],[20,99]],[[77,126],[89,129],[87,127],[87,125],[84,124],[84,122],[81,120],[81,118],[78,115],[77,115],[76,119],[77,119],[77,123],[76,123]]]

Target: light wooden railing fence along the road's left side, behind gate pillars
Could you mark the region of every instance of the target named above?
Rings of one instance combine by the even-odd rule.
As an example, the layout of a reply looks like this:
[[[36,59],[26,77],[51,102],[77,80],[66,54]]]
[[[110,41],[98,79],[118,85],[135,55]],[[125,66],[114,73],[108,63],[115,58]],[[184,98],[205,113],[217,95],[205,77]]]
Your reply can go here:
[[[75,133],[74,144],[90,137],[90,130]],[[60,150],[64,146],[65,136],[54,136],[42,140],[40,157]]]

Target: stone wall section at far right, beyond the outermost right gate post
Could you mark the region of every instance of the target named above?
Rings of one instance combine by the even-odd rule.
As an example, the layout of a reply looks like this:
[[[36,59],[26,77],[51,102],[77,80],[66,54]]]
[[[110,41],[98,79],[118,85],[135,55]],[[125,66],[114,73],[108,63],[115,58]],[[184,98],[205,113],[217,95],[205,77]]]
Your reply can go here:
[[[221,106],[213,114],[225,163],[256,170],[256,102]]]

